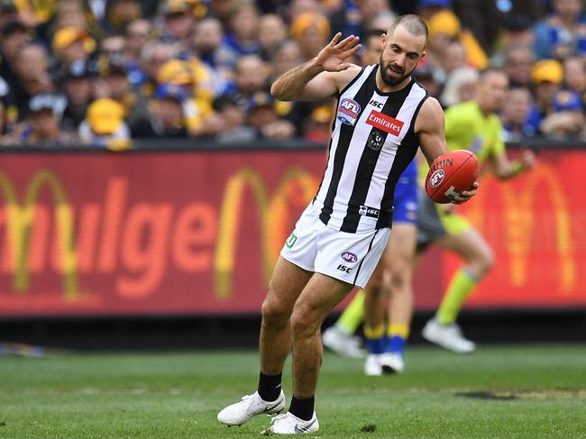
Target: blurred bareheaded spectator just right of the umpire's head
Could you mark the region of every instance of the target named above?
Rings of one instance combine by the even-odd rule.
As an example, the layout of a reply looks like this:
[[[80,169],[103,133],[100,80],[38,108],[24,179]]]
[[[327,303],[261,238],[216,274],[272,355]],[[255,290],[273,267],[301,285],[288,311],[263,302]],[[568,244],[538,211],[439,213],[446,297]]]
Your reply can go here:
[[[527,87],[511,87],[500,114],[505,142],[520,142],[536,134],[536,127],[527,123],[533,102]]]

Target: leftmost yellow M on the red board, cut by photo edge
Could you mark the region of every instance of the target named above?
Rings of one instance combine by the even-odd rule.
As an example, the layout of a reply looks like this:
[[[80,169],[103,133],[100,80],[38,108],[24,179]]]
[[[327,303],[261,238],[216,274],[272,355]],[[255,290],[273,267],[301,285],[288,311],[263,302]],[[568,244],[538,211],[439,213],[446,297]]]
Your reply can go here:
[[[0,224],[4,222],[6,229],[0,269],[13,273],[14,291],[29,290],[30,270],[33,265],[32,246],[45,245],[50,236],[50,233],[45,233],[44,242],[32,242],[32,231],[39,215],[37,200],[43,186],[49,188],[55,203],[55,250],[60,254],[63,291],[67,298],[73,299],[79,291],[77,258],[73,245],[74,218],[65,188],[57,175],[50,170],[41,169],[34,174],[25,190],[22,203],[18,200],[10,178],[0,172],[0,191],[5,198],[5,208],[0,209]]]

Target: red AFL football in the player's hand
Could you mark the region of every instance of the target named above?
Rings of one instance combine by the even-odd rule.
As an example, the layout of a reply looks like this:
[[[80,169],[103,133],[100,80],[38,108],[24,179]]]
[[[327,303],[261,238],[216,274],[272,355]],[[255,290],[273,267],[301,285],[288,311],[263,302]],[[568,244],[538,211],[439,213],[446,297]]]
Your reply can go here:
[[[439,156],[426,177],[426,193],[435,203],[446,204],[470,190],[478,178],[478,160],[473,152],[454,150]]]

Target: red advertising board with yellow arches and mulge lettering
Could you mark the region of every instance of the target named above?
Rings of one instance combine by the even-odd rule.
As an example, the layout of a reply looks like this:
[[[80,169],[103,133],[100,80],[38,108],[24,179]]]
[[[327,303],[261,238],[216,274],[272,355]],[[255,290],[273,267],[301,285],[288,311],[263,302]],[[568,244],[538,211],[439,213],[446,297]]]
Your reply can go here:
[[[3,153],[0,317],[257,313],[324,165],[324,151]],[[472,306],[586,305],[581,165],[586,152],[547,151],[514,182],[482,178],[462,210],[498,263]],[[422,262],[419,308],[456,262]]]

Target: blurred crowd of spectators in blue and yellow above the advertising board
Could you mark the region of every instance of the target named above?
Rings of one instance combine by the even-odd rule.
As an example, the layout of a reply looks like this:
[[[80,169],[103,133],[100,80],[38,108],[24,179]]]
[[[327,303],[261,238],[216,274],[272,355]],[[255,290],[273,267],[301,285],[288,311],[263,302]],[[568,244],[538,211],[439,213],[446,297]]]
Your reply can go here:
[[[0,142],[327,142],[334,99],[275,101],[271,81],[338,31],[361,36],[353,62],[378,62],[368,50],[406,13],[428,23],[417,80],[444,107],[499,67],[508,141],[586,139],[582,0],[0,0]]]

